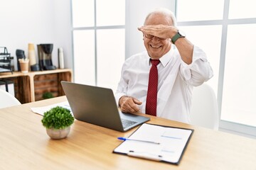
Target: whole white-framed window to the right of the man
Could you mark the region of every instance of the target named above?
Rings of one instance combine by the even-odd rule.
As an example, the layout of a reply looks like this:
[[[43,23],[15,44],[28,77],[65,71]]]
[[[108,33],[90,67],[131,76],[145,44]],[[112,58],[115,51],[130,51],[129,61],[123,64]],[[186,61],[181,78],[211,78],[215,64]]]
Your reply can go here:
[[[177,0],[176,3],[178,28],[206,51],[213,67],[214,77],[207,83],[218,95],[220,128],[255,135],[254,1]]]

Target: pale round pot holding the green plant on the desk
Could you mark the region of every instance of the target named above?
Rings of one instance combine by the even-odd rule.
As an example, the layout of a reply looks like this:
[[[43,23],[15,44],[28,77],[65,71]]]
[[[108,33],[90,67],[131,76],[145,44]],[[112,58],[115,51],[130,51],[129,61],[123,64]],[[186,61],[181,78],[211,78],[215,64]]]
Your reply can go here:
[[[68,136],[70,132],[70,126],[65,129],[54,129],[54,128],[46,128],[46,132],[49,135],[49,137],[53,140],[61,140]]]

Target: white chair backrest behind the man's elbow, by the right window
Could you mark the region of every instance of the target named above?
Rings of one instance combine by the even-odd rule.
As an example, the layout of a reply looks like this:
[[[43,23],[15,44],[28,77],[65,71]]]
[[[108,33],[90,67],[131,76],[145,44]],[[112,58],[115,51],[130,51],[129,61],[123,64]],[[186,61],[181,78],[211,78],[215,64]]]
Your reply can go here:
[[[218,103],[213,89],[208,84],[193,88],[191,125],[218,130]]]

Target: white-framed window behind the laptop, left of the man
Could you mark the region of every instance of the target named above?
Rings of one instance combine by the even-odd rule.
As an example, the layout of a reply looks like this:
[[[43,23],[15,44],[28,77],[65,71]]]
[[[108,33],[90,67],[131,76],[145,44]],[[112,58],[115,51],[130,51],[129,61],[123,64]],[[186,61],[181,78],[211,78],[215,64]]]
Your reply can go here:
[[[125,1],[72,0],[74,81],[115,91],[125,59]]]

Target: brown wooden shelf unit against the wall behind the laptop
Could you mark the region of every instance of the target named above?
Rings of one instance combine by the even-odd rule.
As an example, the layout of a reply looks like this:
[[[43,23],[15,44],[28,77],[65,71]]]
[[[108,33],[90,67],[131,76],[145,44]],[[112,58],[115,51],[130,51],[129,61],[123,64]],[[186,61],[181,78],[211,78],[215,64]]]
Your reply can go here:
[[[60,81],[73,81],[72,69],[54,69],[38,72],[1,73],[0,80],[14,81],[15,97],[21,103],[43,100],[43,94],[50,92],[54,97],[64,96]]]

